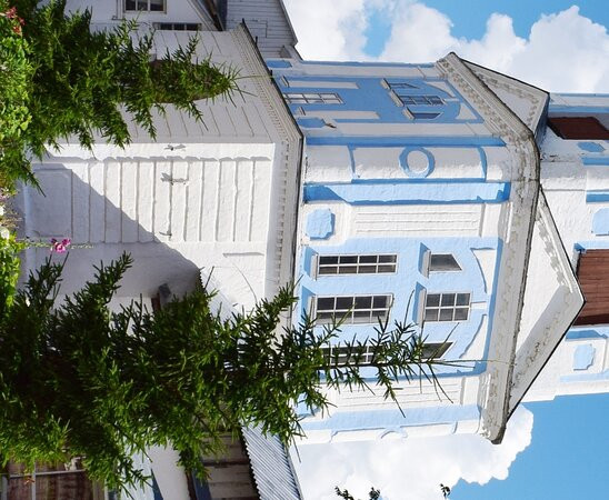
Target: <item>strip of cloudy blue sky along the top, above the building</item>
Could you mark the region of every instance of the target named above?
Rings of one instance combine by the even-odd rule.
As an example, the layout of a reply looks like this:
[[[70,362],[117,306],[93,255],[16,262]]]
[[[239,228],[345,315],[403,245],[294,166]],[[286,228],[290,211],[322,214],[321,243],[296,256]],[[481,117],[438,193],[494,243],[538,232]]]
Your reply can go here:
[[[307,59],[432,62],[456,51],[552,92],[609,92],[606,0],[286,0],[286,4],[298,49]]]

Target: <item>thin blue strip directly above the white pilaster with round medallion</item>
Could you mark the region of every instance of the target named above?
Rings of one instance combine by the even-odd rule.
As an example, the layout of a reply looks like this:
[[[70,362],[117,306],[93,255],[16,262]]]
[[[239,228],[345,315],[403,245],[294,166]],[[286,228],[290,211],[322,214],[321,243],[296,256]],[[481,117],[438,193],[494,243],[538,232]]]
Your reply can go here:
[[[407,146],[506,146],[499,137],[480,136],[451,136],[451,137],[430,137],[430,136],[387,136],[387,137],[361,137],[361,136],[339,136],[339,137],[308,137],[309,146],[352,146],[358,147],[407,147]]]

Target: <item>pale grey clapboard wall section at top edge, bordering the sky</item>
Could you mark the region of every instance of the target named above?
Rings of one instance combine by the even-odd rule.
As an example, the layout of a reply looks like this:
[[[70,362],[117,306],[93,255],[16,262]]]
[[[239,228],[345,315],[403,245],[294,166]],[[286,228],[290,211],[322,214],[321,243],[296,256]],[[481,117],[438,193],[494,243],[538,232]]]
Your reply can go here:
[[[229,0],[227,29],[233,29],[242,21],[264,57],[281,57],[283,46],[297,42],[281,0]]]

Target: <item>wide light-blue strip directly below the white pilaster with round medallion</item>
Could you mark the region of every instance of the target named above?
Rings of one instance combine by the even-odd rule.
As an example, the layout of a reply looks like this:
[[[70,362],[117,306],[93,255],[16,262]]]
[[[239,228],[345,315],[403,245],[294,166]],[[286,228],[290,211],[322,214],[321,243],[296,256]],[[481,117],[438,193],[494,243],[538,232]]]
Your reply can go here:
[[[349,204],[501,203],[510,197],[509,182],[306,184],[303,201]]]

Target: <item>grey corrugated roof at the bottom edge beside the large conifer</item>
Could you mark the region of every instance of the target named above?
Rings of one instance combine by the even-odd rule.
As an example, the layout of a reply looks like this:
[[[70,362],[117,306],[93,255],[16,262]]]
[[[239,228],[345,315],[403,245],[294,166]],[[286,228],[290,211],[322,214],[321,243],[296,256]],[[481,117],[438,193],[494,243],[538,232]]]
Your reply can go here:
[[[260,500],[301,500],[292,462],[279,438],[264,436],[260,428],[242,432]]]

